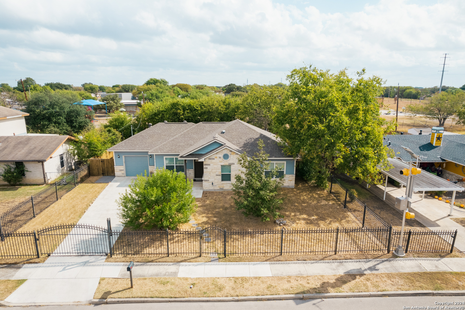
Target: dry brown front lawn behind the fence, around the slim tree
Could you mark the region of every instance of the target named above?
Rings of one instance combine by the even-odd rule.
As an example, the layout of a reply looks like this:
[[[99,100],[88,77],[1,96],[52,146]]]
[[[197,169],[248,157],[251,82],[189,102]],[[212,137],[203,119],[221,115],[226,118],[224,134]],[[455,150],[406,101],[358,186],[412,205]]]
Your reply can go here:
[[[324,189],[296,180],[294,189],[282,190],[286,198],[279,212],[287,221],[286,229],[360,227],[359,222]],[[232,191],[204,191],[202,198],[195,199],[198,209],[192,219],[201,227],[213,225],[228,230],[279,227],[273,220],[261,222],[260,218],[243,216],[236,210],[232,195]],[[186,223],[179,228],[193,227]]]

